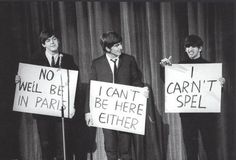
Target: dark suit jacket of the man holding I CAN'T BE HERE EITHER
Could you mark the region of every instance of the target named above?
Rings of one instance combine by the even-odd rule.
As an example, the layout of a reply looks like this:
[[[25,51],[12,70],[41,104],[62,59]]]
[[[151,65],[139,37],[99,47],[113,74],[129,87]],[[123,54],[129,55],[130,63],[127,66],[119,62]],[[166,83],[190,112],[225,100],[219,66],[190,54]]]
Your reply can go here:
[[[90,80],[112,82],[112,77],[112,70],[105,54],[93,60]],[[144,86],[141,72],[133,56],[124,53],[120,55],[116,83],[138,87]],[[89,112],[88,104],[86,105],[85,113]]]

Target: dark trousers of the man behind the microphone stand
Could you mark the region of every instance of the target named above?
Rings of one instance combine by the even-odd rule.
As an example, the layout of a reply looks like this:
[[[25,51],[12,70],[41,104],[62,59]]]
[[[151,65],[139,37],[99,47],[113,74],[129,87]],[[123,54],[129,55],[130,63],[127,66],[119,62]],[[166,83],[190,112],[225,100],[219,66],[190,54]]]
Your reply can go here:
[[[63,160],[63,137],[62,123],[60,118],[38,116],[36,118],[42,159],[43,160]],[[73,154],[71,149],[71,126],[70,120],[65,119],[65,143],[67,160],[72,160]]]

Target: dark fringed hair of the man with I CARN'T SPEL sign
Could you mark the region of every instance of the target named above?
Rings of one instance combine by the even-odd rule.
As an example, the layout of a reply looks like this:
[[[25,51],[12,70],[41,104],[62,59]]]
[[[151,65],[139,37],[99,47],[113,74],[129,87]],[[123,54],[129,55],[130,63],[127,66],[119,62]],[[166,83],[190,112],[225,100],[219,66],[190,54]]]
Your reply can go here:
[[[184,40],[184,47],[201,47],[203,46],[202,39],[197,35],[189,35]]]

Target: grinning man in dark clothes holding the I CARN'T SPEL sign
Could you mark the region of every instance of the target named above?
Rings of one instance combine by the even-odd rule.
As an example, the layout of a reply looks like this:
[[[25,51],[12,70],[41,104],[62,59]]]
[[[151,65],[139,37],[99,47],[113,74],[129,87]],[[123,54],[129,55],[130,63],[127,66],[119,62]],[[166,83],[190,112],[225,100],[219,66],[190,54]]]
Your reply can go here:
[[[180,63],[209,63],[201,56],[203,41],[197,35],[189,35],[184,41],[187,58]],[[171,57],[164,58],[162,66],[171,65]],[[223,86],[225,79],[219,79]],[[201,133],[204,149],[208,160],[217,160],[218,155],[218,113],[181,113],[180,114],[183,139],[186,148],[187,160],[198,160],[198,139]]]

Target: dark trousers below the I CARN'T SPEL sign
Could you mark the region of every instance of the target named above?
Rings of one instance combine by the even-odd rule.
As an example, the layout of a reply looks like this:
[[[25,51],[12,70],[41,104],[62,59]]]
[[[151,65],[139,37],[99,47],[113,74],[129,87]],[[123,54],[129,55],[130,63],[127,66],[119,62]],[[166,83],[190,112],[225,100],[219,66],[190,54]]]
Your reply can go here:
[[[218,159],[218,114],[216,113],[181,113],[183,139],[187,160],[198,160],[199,133],[208,160]]]

